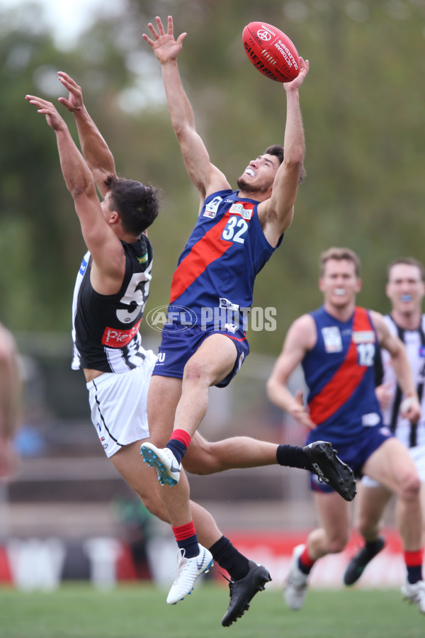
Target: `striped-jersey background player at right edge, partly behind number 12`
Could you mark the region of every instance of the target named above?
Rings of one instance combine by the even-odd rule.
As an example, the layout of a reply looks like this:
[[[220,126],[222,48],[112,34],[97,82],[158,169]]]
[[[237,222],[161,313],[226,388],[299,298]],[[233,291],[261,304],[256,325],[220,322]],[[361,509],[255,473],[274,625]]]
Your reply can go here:
[[[421,403],[421,417],[412,422],[404,415],[404,396],[397,385],[390,357],[382,350],[377,359],[376,393],[382,409],[382,418],[395,436],[409,449],[421,478],[422,514],[425,511],[425,315],[422,300],[425,294],[424,265],[417,259],[396,259],[387,267],[385,291],[390,299],[391,310],[385,315],[390,330],[404,342],[407,358],[412,369],[416,392]],[[380,519],[392,493],[369,476],[363,476],[361,493],[357,500],[356,519],[358,530],[365,545],[353,556],[344,573],[344,583],[353,585],[360,578],[365,566],[385,546],[380,535]]]

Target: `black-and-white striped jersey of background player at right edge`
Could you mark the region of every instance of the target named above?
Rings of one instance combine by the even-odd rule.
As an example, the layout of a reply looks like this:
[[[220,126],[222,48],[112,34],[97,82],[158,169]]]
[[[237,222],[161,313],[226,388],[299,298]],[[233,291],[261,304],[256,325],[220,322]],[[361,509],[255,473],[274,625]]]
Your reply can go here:
[[[399,406],[403,400],[402,392],[397,386],[395,372],[392,369],[391,358],[386,350],[381,352],[383,377],[381,383],[390,383],[392,401],[387,408],[382,408],[384,422],[390,427],[397,438],[407,447],[425,445],[425,315],[421,316],[421,326],[418,330],[403,330],[399,328],[391,315],[385,315],[385,321],[394,335],[398,335],[406,346],[407,358],[412,369],[414,383],[421,402],[421,418],[412,424],[409,419],[402,418]]]

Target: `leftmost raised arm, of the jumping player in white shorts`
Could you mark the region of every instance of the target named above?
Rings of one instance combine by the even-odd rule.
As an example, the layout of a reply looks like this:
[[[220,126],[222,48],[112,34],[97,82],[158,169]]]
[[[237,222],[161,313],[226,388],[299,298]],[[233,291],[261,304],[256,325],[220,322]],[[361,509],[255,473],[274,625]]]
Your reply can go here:
[[[90,169],[55,106],[34,95],[27,95],[26,99],[38,108],[38,113],[46,116],[47,124],[55,131],[62,174],[67,189],[74,198],[84,241],[106,285],[116,287],[118,290],[125,268],[123,247],[103,218],[101,203],[96,194]],[[107,293],[102,290],[97,291]]]

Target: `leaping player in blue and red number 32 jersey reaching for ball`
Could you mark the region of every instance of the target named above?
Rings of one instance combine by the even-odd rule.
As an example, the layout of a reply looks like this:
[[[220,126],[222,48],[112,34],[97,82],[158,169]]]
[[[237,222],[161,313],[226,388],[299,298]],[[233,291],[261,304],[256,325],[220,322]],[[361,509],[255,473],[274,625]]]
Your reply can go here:
[[[200,194],[198,220],[171,284],[169,322],[149,387],[152,442],[141,448],[142,457],[157,469],[165,485],[160,494],[181,549],[179,575],[168,599],[176,602],[200,573],[200,549],[181,461],[207,410],[208,388],[226,386],[249,352],[244,318],[251,307],[254,279],[293,219],[305,152],[299,89],[309,63],[300,58],[300,74],[284,84],[283,147],[268,147],[251,160],[237,180],[239,190],[234,191],[210,162],[181,84],[177,57],[186,33],[174,39],[171,16],[167,30],[159,18],[156,27],[149,24],[152,37],[143,38],[162,65],[171,123],[188,175]],[[181,330],[182,307],[190,311],[193,322],[187,330]],[[249,572],[246,566],[246,576],[261,576],[260,569],[253,566]],[[265,583],[267,573],[260,580]]]

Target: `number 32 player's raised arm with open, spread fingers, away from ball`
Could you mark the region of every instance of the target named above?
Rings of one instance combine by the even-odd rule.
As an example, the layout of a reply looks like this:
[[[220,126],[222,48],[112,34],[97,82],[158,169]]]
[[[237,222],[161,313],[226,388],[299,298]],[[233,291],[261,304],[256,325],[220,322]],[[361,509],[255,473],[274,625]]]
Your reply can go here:
[[[152,38],[145,33],[143,38],[152,46],[154,54],[162,65],[162,79],[171,124],[180,143],[181,153],[188,175],[198,189],[201,198],[218,190],[228,189],[229,183],[225,175],[210,162],[210,156],[200,135],[196,132],[195,117],[188,96],[183,89],[177,56],[181,51],[186,33],[174,40],[173,18],[168,18],[168,28],[165,32],[160,18],[156,18],[157,29],[149,23]]]

